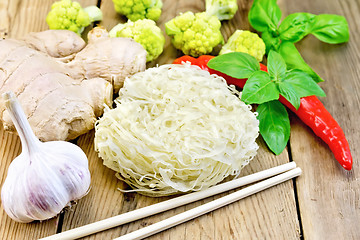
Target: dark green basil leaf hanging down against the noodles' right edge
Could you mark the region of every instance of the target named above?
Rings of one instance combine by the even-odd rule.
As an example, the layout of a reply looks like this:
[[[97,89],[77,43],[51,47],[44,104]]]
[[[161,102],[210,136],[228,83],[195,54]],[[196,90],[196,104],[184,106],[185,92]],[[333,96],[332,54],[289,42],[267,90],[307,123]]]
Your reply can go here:
[[[290,120],[286,108],[279,101],[260,104],[259,130],[269,149],[279,155],[290,137]]]

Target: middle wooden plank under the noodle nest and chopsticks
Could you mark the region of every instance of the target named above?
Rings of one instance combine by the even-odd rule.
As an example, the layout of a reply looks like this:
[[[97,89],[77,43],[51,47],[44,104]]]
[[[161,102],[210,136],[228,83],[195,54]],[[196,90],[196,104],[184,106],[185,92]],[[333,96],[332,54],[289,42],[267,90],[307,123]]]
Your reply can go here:
[[[250,3],[246,3],[243,12],[248,11],[250,5]],[[202,1],[164,1],[164,11],[158,21],[158,25],[164,31],[165,22],[180,12],[187,10],[198,12],[204,10],[204,8],[204,2]],[[247,8],[247,10],[245,10],[245,8]],[[112,28],[118,22],[124,22],[124,19],[115,13],[111,0],[103,0],[101,9],[106,17],[100,24],[107,29]],[[238,15],[238,17],[242,18],[241,22],[245,22],[243,15]],[[223,30],[228,31],[228,34],[230,34],[237,27],[240,27],[237,24],[239,24],[239,21],[236,19],[229,21]],[[248,28],[248,23],[244,24],[244,27],[245,26]],[[172,47],[170,39],[166,37],[164,53],[156,63],[171,63],[174,58],[180,55],[181,53]],[[150,63],[148,67],[156,63]],[[78,141],[78,145],[84,149],[90,161],[93,181],[92,189],[86,197],[79,201],[77,206],[71,211],[66,212],[63,230],[82,226],[168,199],[166,197],[150,198],[135,193],[123,194],[118,191],[116,188],[125,188],[126,186],[115,178],[113,171],[102,165],[102,160],[99,159],[94,152],[92,141],[93,135],[90,136],[89,134],[80,137]],[[243,175],[289,161],[286,151],[284,151],[281,156],[275,157],[268,152],[263,142],[261,140],[259,141],[262,148],[258,156],[245,168]],[[84,239],[115,238],[221,196],[179,207],[156,216],[94,234]],[[269,199],[273,200],[269,201]],[[181,224],[153,237],[149,237],[149,239],[243,239],[252,237],[298,239],[300,236],[299,229],[293,185],[290,181],[260,193],[256,197],[249,197],[228,207],[206,214],[205,216]]]

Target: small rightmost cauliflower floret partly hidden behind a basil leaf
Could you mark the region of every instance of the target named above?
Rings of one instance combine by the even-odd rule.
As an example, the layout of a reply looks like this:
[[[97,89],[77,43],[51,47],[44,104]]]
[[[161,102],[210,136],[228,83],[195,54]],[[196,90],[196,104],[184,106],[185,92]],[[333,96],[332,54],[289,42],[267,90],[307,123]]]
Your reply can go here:
[[[265,43],[256,33],[236,30],[221,48],[220,55],[229,52],[243,52],[255,57],[259,62],[265,54]]]

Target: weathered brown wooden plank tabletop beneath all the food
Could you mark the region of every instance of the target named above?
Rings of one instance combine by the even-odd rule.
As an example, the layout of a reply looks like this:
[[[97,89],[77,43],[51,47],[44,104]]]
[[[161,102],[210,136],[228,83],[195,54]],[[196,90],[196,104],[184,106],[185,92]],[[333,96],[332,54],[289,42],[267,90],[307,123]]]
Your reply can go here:
[[[31,31],[47,29],[45,17],[53,1],[1,0],[0,37],[19,38]],[[110,29],[124,17],[116,14],[111,0],[84,0],[83,6],[98,4],[104,20],[101,25]],[[163,14],[158,25],[180,12],[199,12],[204,1],[163,0]],[[328,45],[314,37],[307,37],[297,46],[305,60],[326,82],[321,86],[327,93],[321,98],[327,109],[344,128],[354,157],[354,170],[346,172],[335,161],[332,153],[312,131],[291,115],[290,148],[275,156],[259,138],[260,150],[242,175],[295,161],[303,174],[296,181],[288,181],[253,195],[227,207],[206,214],[148,239],[360,239],[360,183],[359,134],[360,116],[359,66],[360,5],[357,0],[278,1],[283,16],[293,12],[335,13],[344,15],[350,25],[348,44]],[[227,39],[235,29],[250,29],[247,13],[252,1],[238,0],[239,11],[231,21],[224,21],[222,33]],[[85,36],[84,36],[85,37]],[[0,50],[1,51],[1,50]],[[164,53],[148,67],[170,63],[181,52],[175,50],[166,36]],[[118,188],[127,186],[117,180],[114,172],[102,165],[93,146],[94,131],[77,140],[89,158],[92,187],[87,196],[60,216],[43,222],[19,224],[0,208],[0,239],[37,239],[55,232],[72,229],[97,220],[148,206],[165,199],[150,198],[136,193],[124,194]],[[0,186],[8,166],[21,152],[17,136],[0,127]],[[217,199],[225,194],[179,207],[149,218],[138,220],[84,239],[112,239],[136,229],[166,219],[177,213]]]

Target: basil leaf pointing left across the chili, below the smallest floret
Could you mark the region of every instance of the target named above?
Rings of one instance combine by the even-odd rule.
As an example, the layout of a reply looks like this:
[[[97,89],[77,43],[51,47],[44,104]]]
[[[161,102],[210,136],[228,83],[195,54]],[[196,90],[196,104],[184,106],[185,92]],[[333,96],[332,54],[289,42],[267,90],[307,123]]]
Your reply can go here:
[[[208,62],[208,67],[234,78],[249,78],[260,70],[259,62],[253,56],[242,52],[219,55]]]

